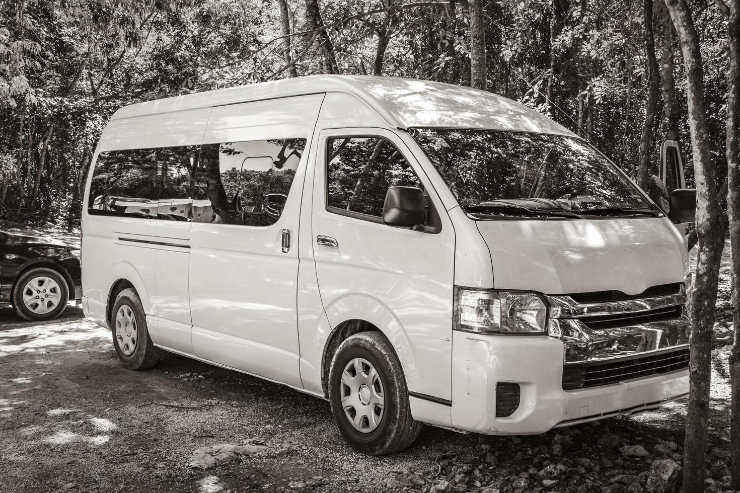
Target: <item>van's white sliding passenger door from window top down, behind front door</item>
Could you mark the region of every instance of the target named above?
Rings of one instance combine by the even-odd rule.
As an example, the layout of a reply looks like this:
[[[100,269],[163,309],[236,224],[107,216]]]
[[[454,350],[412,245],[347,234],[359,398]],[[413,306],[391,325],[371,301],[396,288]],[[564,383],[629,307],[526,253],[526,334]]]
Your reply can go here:
[[[190,235],[195,356],[296,387],[305,147],[305,138],[203,144]]]

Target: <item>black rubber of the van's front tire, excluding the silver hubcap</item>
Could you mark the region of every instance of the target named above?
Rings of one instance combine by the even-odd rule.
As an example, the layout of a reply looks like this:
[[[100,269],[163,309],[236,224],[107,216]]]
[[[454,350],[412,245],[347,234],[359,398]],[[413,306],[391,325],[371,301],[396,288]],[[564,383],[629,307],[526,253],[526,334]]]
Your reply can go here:
[[[342,402],[342,394],[349,392],[349,387],[342,381],[343,372],[357,358],[366,361],[372,370],[377,371],[384,395],[380,422],[370,432],[356,429]],[[391,343],[380,332],[354,334],[337,348],[329,372],[329,401],[334,420],[337,421],[344,439],[354,449],[365,454],[386,455],[400,452],[411,446],[421,431],[422,424],[411,417],[406,378],[403,376],[401,363]]]

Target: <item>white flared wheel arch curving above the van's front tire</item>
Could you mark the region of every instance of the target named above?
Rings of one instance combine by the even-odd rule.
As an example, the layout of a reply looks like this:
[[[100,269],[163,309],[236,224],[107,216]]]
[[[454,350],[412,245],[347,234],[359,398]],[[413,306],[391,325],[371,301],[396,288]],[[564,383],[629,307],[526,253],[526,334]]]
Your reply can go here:
[[[369,322],[377,327],[388,338],[388,341],[391,341],[396,356],[401,362],[408,390],[416,387],[418,368],[411,352],[411,341],[408,339],[403,324],[387,305],[364,293],[350,293],[332,300],[324,307],[324,310],[329,319],[329,325],[332,327],[332,333],[324,341],[325,348],[331,340],[334,329],[342,322],[353,319]]]

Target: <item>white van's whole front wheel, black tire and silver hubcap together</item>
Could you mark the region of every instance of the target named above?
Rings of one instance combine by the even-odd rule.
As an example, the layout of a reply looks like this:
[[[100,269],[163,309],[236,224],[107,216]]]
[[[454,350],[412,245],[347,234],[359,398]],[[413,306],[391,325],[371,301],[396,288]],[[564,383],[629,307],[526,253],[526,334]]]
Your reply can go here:
[[[421,431],[421,423],[411,417],[401,363],[380,332],[354,334],[337,348],[329,372],[329,401],[344,439],[365,454],[400,452]]]

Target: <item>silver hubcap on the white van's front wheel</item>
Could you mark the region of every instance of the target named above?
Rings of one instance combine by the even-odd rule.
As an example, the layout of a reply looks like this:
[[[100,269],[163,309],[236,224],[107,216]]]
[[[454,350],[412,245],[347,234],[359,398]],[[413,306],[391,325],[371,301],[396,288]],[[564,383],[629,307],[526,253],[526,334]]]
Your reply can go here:
[[[344,367],[341,397],[344,414],[354,429],[369,433],[377,428],[383,419],[386,397],[380,375],[370,361],[354,358]]]

